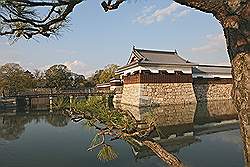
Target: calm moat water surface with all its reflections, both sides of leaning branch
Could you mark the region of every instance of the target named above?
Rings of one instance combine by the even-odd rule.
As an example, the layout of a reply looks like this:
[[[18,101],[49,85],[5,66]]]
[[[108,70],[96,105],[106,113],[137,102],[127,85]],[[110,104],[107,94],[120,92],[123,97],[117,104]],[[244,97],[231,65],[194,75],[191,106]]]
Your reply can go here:
[[[150,134],[150,138],[176,154],[185,165],[233,167],[243,166],[244,161],[237,113],[232,106],[230,101],[221,101],[155,108],[123,107],[138,119],[143,119],[146,112],[154,113],[157,118],[157,128]],[[6,156],[8,152],[1,150],[0,166],[1,163],[6,165],[10,161],[16,165],[9,166],[34,166],[34,163],[29,161],[35,159],[39,162],[35,166],[57,166],[58,159],[62,166],[65,164],[70,166],[70,159],[74,159],[74,166],[82,166],[86,162],[94,167],[163,166],[155,154],[146,147],[132,147],[131,153],[130,147],[121,142],[115,143],[121,149],[117,150],[120,155],[117,161],[107,164],[94,162],[97,161],[95,153],[83,152],[86,149],[82,147],[83,144],[86,148],[89,146],[91,135],[86,129],[72,125],[62,112],[0,111],[0,113],[2,113],[0,139],[11,142],[6,146],[9,149],[13,148],[8,150],[9,152],[19,153],[10,159]],[[39,153],[34,152],[33,147],[40,150]],[[22,156],[30,154],[33,159]],[[58,155],[60,158],[50,159],[48,163],[42,161],[49,155]]]

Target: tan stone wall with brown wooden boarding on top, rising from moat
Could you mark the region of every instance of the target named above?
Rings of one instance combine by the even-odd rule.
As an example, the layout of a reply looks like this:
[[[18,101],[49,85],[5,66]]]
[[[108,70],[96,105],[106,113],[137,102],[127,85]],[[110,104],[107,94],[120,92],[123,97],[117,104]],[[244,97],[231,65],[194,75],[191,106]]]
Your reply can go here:
[[[135,72],[123,76],[122,104],[164,106],[231,99],[231,78],[192,78],[180,71]]]

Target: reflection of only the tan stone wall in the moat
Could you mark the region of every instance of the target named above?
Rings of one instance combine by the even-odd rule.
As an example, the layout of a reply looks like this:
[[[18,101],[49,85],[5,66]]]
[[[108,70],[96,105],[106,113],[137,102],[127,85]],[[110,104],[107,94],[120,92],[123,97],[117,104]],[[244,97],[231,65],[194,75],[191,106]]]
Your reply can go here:
[[[231,100],[199,102],[197,104],[178,104],[160,107],[136,107],[121,105],[121,109],[128,110],[138,120],[144,114],[152,112],[160,126],[180,124],[202,124],[221,120],[237,119],[237,111]]]

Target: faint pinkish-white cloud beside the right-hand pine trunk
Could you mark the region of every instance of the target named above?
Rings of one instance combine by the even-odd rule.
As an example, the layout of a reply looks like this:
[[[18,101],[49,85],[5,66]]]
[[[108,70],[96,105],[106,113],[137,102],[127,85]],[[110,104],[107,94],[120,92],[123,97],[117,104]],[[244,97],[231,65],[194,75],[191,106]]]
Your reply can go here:
[[[204,45],[191,48],[191,50],[197,53],[214,53],[226,50],[226,42],[223,33],[207,35],[205,40],[206,43]]]

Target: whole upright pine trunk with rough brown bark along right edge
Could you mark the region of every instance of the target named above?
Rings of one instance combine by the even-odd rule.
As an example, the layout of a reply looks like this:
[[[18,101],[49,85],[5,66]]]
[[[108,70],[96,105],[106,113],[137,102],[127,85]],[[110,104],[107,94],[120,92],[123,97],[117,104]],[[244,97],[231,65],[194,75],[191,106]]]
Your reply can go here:
[[[231,0],[232,1],[232,0]],[[230,1],[229,1],[230,2]],[[238,111],[241,136],[244,143],[246,166],[250,157],[250,3],[227,3],[227,15],[220,18],[227,40],[227,50],[232,64],[232,98]]]

